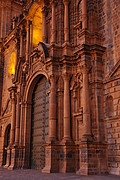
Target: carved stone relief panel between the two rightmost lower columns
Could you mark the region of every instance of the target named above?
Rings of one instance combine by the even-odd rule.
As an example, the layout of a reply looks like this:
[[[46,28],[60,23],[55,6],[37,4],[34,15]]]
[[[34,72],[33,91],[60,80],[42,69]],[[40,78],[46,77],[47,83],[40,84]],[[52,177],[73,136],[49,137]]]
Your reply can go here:
[[[71,111],[72,111],[72,129],[73,129],[73,139],[76,141],[80,140],[82,137],[83,129],[83,120],[82,120],[82,104],[81,104],[81,95],[82,95],[82,85],[83,84],[83,75],[82,73],[77,73],[72,77],[71,80]]]

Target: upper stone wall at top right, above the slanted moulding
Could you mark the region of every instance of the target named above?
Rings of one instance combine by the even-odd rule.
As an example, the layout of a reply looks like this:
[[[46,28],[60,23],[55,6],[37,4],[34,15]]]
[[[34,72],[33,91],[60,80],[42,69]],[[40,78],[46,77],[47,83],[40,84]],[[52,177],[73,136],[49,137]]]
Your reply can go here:
[[[103,35],[106,50],[105,74],[108,74],[120,57],[120,2],[98,0],[99,32]]]

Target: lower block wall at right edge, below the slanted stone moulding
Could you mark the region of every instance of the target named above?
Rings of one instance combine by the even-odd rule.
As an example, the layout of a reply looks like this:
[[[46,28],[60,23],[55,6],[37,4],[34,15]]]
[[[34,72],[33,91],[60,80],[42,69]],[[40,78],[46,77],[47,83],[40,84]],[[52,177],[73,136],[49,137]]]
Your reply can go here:
[[[108,170],[120,174],[120,80],[104,87],[106,142],[108,143]],[[110,104],[109,104],[110,103]],[[110,112],[109,112],[110,111]]]

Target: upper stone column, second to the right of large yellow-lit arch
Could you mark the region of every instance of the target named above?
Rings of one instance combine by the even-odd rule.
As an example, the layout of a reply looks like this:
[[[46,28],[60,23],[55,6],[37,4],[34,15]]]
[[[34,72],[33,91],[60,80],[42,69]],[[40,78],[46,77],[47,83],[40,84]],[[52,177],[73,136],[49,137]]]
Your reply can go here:
[[[51,32],[51,43],[56,42],[56,25],[55,25],[55,0],[51,0],[52,6],[52,32]]]

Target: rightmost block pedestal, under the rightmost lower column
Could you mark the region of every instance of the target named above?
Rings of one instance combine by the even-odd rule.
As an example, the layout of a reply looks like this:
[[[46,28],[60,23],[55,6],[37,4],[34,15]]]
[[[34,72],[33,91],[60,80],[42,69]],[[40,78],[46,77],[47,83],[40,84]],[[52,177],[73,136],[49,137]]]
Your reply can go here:
[[[82,141],[79,144],[79,175],[106,174],[106,144],[100,144],[93,141]]]

